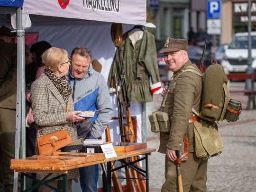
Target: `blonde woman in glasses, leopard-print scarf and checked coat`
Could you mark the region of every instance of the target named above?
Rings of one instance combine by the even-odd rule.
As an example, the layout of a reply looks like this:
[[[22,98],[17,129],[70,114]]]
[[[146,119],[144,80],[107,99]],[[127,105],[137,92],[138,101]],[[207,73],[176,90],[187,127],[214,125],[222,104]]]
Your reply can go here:
[[[33,117],[38,125],[36,138],[40,135],[39,129],[42,129],[43,134],[49,134],[59,131],[63,127],[72,139],[76,140],[77,130],[73,122],[87,121],[88,119],[76,116],[81,111],[74,111],[73,108],[72,90],[65,78],[70,66],[68,52],[52,47],[44,52],[42,62],[45,65],[45,71],[32,83],[30,91]],[[38,154],[37,145],[35,148],[35,154]],[[37,173],[37,179],[41,180],[46,175]],[[57,175],[53,174],[48,179],[55,176]],[[78,177],[78,169],[68,172],[67,192],[72,191],[72,179]],[[61,188],[62,181],[53,181],[49,184]],[[55,192],[55,190],[43,185],[39,188],[39,192]]]

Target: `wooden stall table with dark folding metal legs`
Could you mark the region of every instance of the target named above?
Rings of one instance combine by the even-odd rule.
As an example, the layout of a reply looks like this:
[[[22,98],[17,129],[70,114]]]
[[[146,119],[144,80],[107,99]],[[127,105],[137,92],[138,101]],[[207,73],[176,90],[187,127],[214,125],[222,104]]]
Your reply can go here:
[[[60,157],[56,156],[32,156],[27,159],[11,159],[11,169],[15,169],[16,172],[21,172],[21,192],[27,192],[30,190],[33,190],[34,188],[37,188],[41,185],[46,185],[52,189],[51,185],[47,184],[51,181],[54,181],[55,179],[59,179],[60,177],[63,177],[63,192],[65,192],[66,184],[67,184],[67,173],[68,170],[79,168],[79,167],[85,167],[90,165],[96,165],[107,162],[107,175],[108,175],[108,192],[111,192],[111,173],[115,170],[124,168],[124,167],[131,167],[132,169],[136,170],[139,174],[143,175],[146,180],[146,192],[149,191],[149,183],[148,183],[148,155],[151,154],[151,152],[156,151],[154,148],[145,148],[140,150],[134,150],[130,152],[117,152],[117,157],[110,158],[110,159],[104,159],[102,158],[102,155],[104,154],[89,154],[89,153],[59,153],[62,154],[61,158],[63,159],[62,162],[58,162],[56,164],[51,165],[49,163],[49,160],[52,162],[52,160]],[[96,157],[98,155],[98,157]],[[145,157],[140,158],[136,161],[127,162],[125,159],[138,156],[138,155],[145,155]],[[84,160],[82,160],[84,159]],[[115,169],[111,169],[111,161],[120,161],[122,162],[122,165],[119,167],[116,167]],[[138,167],[134,166],[134,163],[137,163],[139,161],[145,160],[146,161],[146,170],[138,169]],[[35,165],[35,163],[38,163]],[[57,178],[53,178],[47,181],[40,181],[36,178],[31,177],[30,175],[27,175],[26,173],[49,173],[49,175],[53,173],[59,173],[62,175],[57,176]],[[35,181],[37,181],[37,184],[32,186],[29,189],[23,190],[24,188],[24,176],[27,176]],[[58,192],[62,192],[61,190],[55,189]]]

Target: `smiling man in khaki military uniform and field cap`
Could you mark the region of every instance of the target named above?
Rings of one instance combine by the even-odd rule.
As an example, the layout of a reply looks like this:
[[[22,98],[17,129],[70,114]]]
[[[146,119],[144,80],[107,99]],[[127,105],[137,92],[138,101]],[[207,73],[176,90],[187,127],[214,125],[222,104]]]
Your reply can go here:
[[[165,63],[174,72],[174,79],[166,86],[167,92],[164,112],[168,113],[170,132],[160,132],[158,152],[165,153],[165,183],[162,192],[177,192],[176,151],[183,146],[183,137],[188,138],[188,159],[180,165],[184,192],[206,192],[207,160],[198,158],[194,146],[193,122],[200,117],[192,113],[201,109],[202,79],[188,68],[200,70],[188,58],[187,39],[166,38],[161,53],[165,54]],[[185,72],[185,70],[187,70]],[[181,154],[182,155],[182,154]]]

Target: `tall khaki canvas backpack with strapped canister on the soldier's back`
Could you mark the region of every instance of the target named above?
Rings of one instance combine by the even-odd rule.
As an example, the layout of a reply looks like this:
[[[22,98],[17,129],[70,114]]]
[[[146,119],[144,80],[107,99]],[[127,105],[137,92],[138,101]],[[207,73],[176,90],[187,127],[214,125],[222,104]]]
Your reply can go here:
[[[208,121],[223,121],[224,119],[228,122],[237,121],[241,113],[241,102],[230,99],[227,87],[228,77],[223,67],[217,63],[210,65],[202,74],[202,80],[203,96],[200,117]]]

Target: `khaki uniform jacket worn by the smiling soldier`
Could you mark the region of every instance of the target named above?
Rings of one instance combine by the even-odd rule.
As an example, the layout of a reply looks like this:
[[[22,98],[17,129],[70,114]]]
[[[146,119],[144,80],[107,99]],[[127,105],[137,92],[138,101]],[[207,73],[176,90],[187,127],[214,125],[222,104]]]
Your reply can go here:
[[[158,152],[166,153],[166,149],[180,150],[183,136],[189,140],[189,152],[194,152],[194,127],[189,123],[192,108],[197,112],[201,109],[202,79],[193,72],[183,70],[192,66],[200,72],[195,64],[187,61],[183,67],[174,73],[174,79],[169,85],[164,112],[172,121],[170,133],[160,133]],[[201,72],[200,72],[201,73]]]

